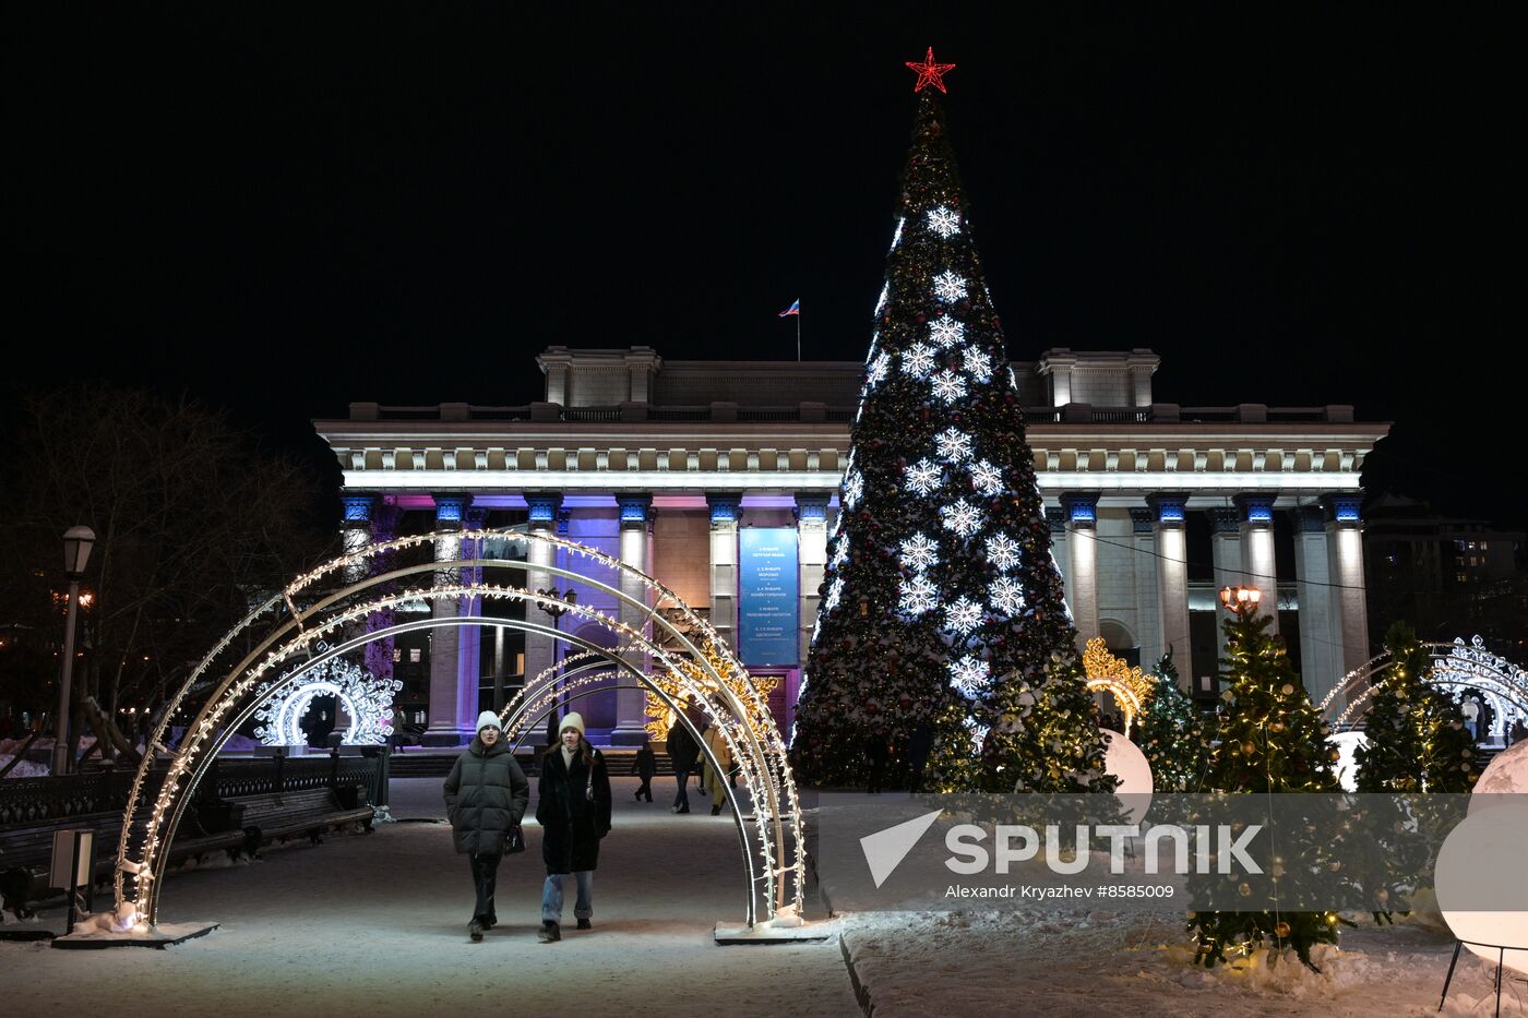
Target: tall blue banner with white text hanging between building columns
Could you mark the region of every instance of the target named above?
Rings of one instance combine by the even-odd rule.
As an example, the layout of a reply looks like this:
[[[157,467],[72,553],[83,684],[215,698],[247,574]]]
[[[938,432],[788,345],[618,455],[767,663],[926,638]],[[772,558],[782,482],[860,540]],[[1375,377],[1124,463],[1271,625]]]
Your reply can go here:
[[[796,666],[796,529],[738,530],[738,657],[753,666]]]

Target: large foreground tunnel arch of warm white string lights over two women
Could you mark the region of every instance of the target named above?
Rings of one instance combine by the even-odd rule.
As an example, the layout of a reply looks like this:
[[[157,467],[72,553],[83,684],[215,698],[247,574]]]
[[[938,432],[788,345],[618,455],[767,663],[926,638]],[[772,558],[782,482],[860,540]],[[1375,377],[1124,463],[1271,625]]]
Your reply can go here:
[[[524,558],[478,558],[472,556],[481,541],[509,540],[547,550],[562,550],[570,559],[587,559],[591,566],[605,569],[613,584],[545,562],[532,564]],[[370,572],[374,556],[385,556],[420,546],[435,550],[434,561],[379,572]],[[452,555],[454,558],[445,558]],[[385,559],[384,559],[385,561]],[[640,613],[637,627],[601,614],[587,605],[565,605],[524,585],[486,582],[489,573],[518,576],[523,582],[530,572],[556,576],[599,590],[614,601],[619,610]],[[358,578],[359,576],[359,578]],[[631,596],[620,590],[622,581],[640,584],[640,593]],[[406,587],[408,582],[422,582]],[[327,587],[325,584],[335,584]],[[396,587],[394,592],[388,592]],[[654,604],[646,604],[652,596]],[[738,836],[743,842],[747,865],[747,925],[758,919],[758,903],[762,897],[766,919],[775,925],[799,925],[804,897],[804,835],[801,801],[785,754],[785,743],[769,714],[769,706],[758,688],[747,680],[743,665],[726,650],[715,630],[672,590],[631,566],[599,552],[597,549],[567,541],[550,533],[520,533],[510,530],[458,530],[423,533],[368,544],[351,550],[324,566],[298,576],[280,595],[249,613],[229,630],[206,657],[191,671],[182,688],[171,697],[163,718],[148,740],[150,752],[133,778],[116,858],[116,914],[122,925],[153,925],[159,911],[159,891],[168,865],[168,853],[162,851],[174,838],[176,828],[196,798],[199,783],[209,770],[219,749],[266,703],[274,700],[283,685],[272,682],[269,673],[280,673],[295,660],[306,660],[304,668],[318,666],[342,654],[358,651],[373,640],[402,633],[440,627],[478,625],[481,619],[471,614],[413,619],[365,631],[368,618],[405,604],[420,604],[434,599],[498,598],[523,601],[532,607],[565,607],[567,611],[587,622],[594,622],[616,634],[616,644],[626,651],[640,651],[652,659],[662,674],[675,680],[704,715],[721,731],[738,766],[740,778],[753,802],[753,822],[744,824],[738,815]],[[578,647],[590,654],[605,656],[617,669],[631,676],[642,688],[657,692],[659,699],[675,706],[668,692],[651,676],[630,660],[620,650],[604,648],[558,628],[520,619],[497,619],[497,625],[544,634],[553,640]],[[703,654],[691,642],[695,633],[711,653]],[[237,657],[235,640],[248,647]],[[681,657],[683,654],[683,657]],[[234,663],[228,666],[226,662]],[[695,671],[681,666],[689,663]],[[205,686],[205,676],[220,674],[212,692],[202,703],[196,717],[186,726],[179,746],[170,751],[165,744],[170,720],[186,705],[191,691]],[[550,689],[541,695],[558,695]],[[529,703],[521,700],[521,709]],[[681,723],[700,741],[700,732],[692,721],[680,714]],[[707,760],[709,749],[701,747]],[[148,810],[144,825],[133,821],[139,799],[147,796],[148,775],[156,754],[170,758],[168,772],[160,790]],[[712,760],[715,764],[715,760]],[[787,862],[787,854],[790,861]],[[761,894],[762,893],[762,894]]]

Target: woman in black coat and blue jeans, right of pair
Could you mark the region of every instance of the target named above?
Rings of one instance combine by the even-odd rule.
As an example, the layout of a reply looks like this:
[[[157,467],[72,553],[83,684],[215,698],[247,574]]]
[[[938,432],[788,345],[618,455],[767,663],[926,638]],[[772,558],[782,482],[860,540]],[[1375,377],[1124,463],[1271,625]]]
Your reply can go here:
[[[547,864],[538,937],[552,943],[562,939],[562,877],[568,873],[578,882],[578,928],[591,926],[599,839],[610,833],[610,773],[605,758],[584,738],[584,718],[576,712],[562,718],[558,744],[541,757],[536,822]]]

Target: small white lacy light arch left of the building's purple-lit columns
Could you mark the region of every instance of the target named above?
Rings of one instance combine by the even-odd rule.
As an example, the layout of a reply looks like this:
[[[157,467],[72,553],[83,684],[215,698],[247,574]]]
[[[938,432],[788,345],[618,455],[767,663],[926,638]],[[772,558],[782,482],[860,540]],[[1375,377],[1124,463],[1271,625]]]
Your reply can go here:
[[[335,697],[350,715],[345,729],[347,746],[385,746],[393,734],[393,694],[403,688],[397,679],[377,679],[370,671],[338,657],[319,665],[301,665],[281,676],[267,689],[272,703],[255,711],[255,720],[264,721],[255,729],[255,738],[264,746],[299,746],[307,741],[303,734],[303,715],[315,697]],[[336,711],[338,714],[338,711]],[[338,718],[336,718],[338,720]]]

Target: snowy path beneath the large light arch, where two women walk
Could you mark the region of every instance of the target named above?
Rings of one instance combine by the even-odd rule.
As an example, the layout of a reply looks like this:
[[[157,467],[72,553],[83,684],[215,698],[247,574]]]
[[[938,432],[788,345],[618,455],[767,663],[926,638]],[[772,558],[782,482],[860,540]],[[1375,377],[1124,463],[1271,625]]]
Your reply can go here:
[[[859,1015],[839,945],[711,942],[741,920],[733,824],[674,816],[659,778],[652,806],[614,780],[614,830],[594,880],[594,929],[539,945],[541,835],[500,868],[500,926],[466,937],[468,864],[435,824],[382,824],[370,836],[290,845],[258,862],[182,871],[165,885],[165,923],[222,922],[168,951],[55,951],[0,942],[0,1013],[115,1015],[579,1013]],[[393,783],[393,815],[443,816],[440,780]],[[102,906],[98,903],[98,908]],[[12,920],[14,922],[14,920]],[[57,929],[60,909],[43,914]]]

